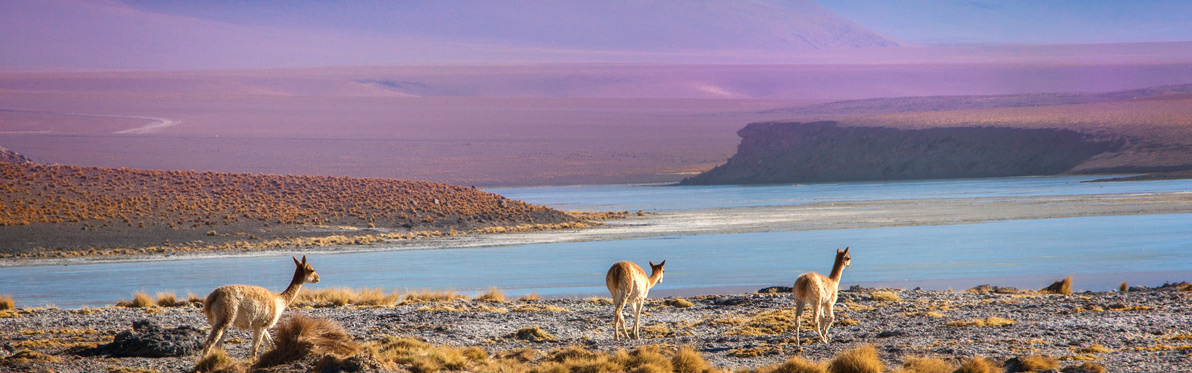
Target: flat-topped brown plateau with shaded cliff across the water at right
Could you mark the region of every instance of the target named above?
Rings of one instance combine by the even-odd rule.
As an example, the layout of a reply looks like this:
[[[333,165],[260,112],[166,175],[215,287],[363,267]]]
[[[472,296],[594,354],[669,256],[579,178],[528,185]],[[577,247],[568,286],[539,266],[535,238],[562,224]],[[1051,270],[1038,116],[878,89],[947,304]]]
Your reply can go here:
[[[1192,169],[1188,86],[1100,94],[932,97],[784,108],[684,184],[991,178]],[[830,114],[837,112],[840,114]]]

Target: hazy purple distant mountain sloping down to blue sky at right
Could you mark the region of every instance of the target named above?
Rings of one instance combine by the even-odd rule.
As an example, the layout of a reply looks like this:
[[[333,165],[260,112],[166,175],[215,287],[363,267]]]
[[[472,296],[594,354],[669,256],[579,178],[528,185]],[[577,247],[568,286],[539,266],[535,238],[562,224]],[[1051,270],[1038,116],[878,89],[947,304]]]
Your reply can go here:
[[[899,46],[808,0],[5,1],[0,66],[688,62]]]

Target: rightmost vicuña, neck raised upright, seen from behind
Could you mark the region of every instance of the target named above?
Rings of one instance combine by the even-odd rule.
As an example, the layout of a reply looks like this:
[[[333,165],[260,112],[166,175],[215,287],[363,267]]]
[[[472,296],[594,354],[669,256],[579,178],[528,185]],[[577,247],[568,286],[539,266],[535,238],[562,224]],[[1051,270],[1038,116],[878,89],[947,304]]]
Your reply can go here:
[[[812,321],[815,324],[815,332],[819,334],[824,344],[827,344],[827,330],[832,328],[836,317],[832,316],[832,305],[836,304],[836,292],[840,288],[840,273],[844,267],[852,265],[852,255],[849,248],[836,249],[836,263],[832,265],[832,275],[808,272],[799,275],[795,280],[795,343],[799,340],[799,319],[803,316],[803,306],[811,304]]]

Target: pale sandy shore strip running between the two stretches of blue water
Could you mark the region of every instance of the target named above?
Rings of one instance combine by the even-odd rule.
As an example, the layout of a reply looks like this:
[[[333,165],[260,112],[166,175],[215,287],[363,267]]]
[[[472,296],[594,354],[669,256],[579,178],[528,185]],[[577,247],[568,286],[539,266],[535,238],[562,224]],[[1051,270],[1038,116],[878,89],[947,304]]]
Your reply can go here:
[[[211,256],[271,256],[292,254],[365,253],[504,247],[558,242],[616,241],[676,235],[719,235],[769,231],[808,231],[981,222],[1053,219],[1126,215],[1192,213],[1192,192],[998,197],[963,199],[898,199],[836,201],[789,206],[677,210],[631,215],[604,225],[454,237],[396,240],[366,245],[293,248],[176,254],[170,256],[104,256],[0,261],[0,267],[81,262],[188,260]]]

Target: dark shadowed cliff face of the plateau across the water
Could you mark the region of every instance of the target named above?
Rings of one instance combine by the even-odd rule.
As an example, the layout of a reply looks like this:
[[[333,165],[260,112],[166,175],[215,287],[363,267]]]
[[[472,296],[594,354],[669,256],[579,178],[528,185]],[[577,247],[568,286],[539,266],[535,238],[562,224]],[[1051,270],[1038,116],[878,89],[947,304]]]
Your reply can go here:
[[[899,130],[836,122],[751,123],[725,164],[684,185],[1053,175],[1124,139],[1060,129]]]

